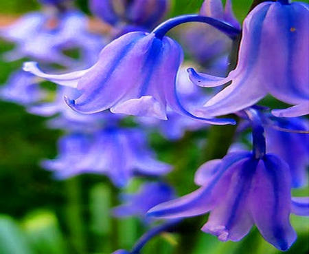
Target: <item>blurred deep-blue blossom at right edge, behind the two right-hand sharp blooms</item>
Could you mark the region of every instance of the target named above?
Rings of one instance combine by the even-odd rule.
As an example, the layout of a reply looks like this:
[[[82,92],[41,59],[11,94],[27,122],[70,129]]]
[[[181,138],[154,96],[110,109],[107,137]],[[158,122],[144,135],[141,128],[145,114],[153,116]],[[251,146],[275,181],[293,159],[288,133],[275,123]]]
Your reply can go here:
[[[271,118],[273,123],[266,125],[266,145],[269,153],[276,154],[288,163],[293,187],[308,184],[309,136],[295,133],[309,129],[308,120],[301,118]],[[275,125],[274,127],[272,125]],[[276,129],[282,128],[283,130]],[[291,132],[288,130],[290,129]]]

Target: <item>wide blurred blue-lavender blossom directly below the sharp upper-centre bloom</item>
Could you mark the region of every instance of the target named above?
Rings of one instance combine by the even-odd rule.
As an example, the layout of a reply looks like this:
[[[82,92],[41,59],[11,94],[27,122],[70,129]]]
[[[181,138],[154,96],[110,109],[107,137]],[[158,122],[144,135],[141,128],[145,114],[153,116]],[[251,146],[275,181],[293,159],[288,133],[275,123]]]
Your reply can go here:
[[[161,176],[172,167],[155,159],[140,129],[110,128],[90,134],[71,134],[59,142],[59,155],[43,161],[43,167],[57,178],[80,173],[108,176],[117,187],[124,187],[136,174]]]

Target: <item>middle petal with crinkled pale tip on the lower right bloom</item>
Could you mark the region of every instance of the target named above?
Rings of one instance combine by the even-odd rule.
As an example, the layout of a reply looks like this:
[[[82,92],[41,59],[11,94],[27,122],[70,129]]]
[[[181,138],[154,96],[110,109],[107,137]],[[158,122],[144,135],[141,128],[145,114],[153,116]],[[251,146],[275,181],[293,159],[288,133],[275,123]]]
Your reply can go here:
[[[226,193],[220,196],[220,202],[211,210],[202,231],[217,235],[221,241],[239,241],[249,233],[253,220],[247,203],[257,164],[257,160],[249,158],[229,169],[233,172],[226,183]]]

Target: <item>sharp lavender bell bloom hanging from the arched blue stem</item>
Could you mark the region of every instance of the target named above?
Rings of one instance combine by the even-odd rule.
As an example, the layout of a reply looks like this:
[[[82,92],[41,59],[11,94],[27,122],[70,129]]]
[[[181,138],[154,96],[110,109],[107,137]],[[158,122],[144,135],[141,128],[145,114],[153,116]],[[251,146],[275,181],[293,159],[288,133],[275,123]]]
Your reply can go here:
[[[148,116],[166,120],[166,110],[190,116],[205,123],[225,125],[229,119],[204,119],[190,114],[176,92],[176,74],[183,52],[167,36],[130,32],[106,45],[97,63],[87,70],[63,75],[41,72],[32,62],[24,70],[59,85],[77,87],[78,98],[67,98],[77,112],[92,114],[110,109],[113,113]]]

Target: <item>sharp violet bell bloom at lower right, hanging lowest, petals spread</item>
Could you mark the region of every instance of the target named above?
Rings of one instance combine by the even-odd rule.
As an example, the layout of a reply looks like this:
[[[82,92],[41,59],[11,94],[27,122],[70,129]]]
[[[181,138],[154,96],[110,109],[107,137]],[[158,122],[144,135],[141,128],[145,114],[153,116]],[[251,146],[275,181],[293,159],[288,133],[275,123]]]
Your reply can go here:
[[[234,152],[210,160],[195,176],[201,188],[182,198],[159,204],[150,215],[179,218],[210,211],[203,231],[221,241],[239,241],[255,224],[264,239],[284,251],[295,241],[289,222],[292,210],[288,165],[273,154],[255,158]]]

